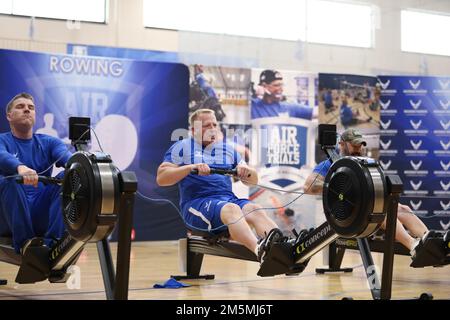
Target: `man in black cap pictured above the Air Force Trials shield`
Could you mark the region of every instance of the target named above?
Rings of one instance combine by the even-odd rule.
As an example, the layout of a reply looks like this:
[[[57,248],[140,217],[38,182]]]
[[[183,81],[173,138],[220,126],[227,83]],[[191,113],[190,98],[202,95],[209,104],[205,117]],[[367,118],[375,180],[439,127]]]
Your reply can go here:
[[[283,101],[283,77],[275,70],[264,70],[259,77],[260,97],[255,95],[251,104],[251,119],[289,116],[311,120],[314,109]]]

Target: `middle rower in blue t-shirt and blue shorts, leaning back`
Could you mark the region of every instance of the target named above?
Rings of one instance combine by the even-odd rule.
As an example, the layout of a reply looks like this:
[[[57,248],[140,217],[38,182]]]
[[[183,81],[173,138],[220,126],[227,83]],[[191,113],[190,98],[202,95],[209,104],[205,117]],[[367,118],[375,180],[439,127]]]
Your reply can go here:
[[[281,238],[281,231],[259,205],[234,195],[229,177],[210,174],[210,168],[236,168],[244,184],[257,183],[258,174],[221,138],[212,110],[195,111],[189,124],[192,136],[176,142],[166,152],[158,168],[158,185],[179,183],[180,207],[189,228],[212,233],[228,228],[231,238],[254,252],[262,262],[264,248]],[[198,175],[191,173],[193,169],[198,170]],[[250,227],[259,237],[265,237],[259,245]]]

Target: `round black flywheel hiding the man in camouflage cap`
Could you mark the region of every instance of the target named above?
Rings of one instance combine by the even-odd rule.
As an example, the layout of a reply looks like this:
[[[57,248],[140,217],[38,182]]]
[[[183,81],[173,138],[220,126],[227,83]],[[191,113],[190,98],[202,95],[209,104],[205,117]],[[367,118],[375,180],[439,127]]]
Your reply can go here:
[[[325,216],[341,237],[367,237],[378,230],[386,216],[386,195],[385,176],[375,160],[340,158],[325,177]]]

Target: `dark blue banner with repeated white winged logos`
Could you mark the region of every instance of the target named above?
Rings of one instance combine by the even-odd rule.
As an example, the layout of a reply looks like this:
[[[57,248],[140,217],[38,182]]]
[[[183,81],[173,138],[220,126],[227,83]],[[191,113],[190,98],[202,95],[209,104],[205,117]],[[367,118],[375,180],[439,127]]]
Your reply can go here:
[[[450,227],[450,78],[380,76],[380,164],[430,229]]]

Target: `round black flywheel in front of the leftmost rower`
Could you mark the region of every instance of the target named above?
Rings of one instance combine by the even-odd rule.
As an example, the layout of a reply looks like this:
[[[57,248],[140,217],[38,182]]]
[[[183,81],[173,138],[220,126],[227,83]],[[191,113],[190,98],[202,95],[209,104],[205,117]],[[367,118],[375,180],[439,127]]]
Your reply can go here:
[[[98,241],[117,221],[119,170],[104,153],[78,151],[66,164],[62,185],[64,223],[72,238]]]

